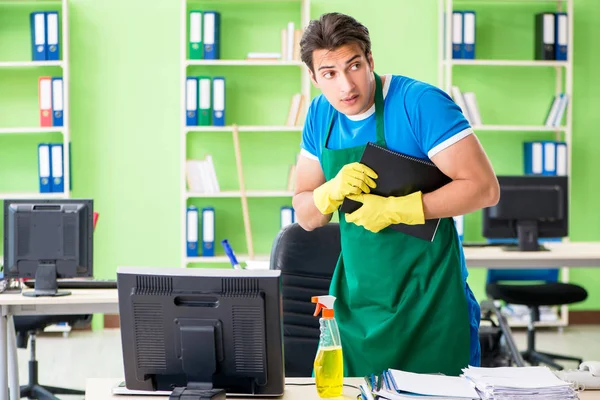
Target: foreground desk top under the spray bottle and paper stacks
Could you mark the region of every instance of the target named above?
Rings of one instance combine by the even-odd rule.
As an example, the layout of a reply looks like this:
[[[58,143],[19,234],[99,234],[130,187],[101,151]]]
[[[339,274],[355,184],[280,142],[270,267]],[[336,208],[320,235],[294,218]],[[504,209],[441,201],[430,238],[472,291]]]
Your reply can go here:
[[[167,400],[167,396],[115,396],[111,390],[122,382],[123,379],[88,379],[85,383],[85,400]],[[311,383],[311,378],[288,378],[287,383]],[[344,383],[358,386],[361,378],[346,378]],[[336,400],[356,400],[357,389],[344,386],[342,397]],[[252,397],[235,397],[236,400],[255,400]],[[286,386],[286,392],[282,400],[320,400],[314,386]],[[580,400],[600,400],[600,390],[584,391],[579,394]]]

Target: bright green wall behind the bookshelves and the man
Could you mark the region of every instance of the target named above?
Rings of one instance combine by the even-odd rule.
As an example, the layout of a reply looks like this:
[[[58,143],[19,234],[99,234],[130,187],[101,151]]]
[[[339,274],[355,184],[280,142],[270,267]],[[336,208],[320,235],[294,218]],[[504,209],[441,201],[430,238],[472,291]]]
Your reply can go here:
[[[114,278],[119,265],[179,266],[179,2],[70,3],[73,196],[94,198],[100,212],[94,243],[96,276]],[[530,57],[533,14],[552,9],[511,2],[463,4],[478,11],[478,56],[489,58]],[[278,51],[279,30],[290,19],[298,22],[299,13],[295,3],[286,2],[213,1],[190,7],[216,8],[224,13],[224,23],[236,24],[235,31],[225,33],[223,48],[224,57],[236,58],[246,51]],[[1,60],[28,59],[27,16],[33,9],[42,8],[0,3]],[[352,14],[369,27],[379,73],[437,83],[437,0],[313,0],[312,17],[329,11]],[[595,154],[600,145],[595,132],[600,100],[594,96],[600,87],[594,68],[600,52],[593,39],[600,36],[599,14],[600,5],[594,0],[576,1],[572,240],[600,240],[600,224],[593,222],[598,220],[598,190],[592,172],[600,168]],[[267,39],[258,34],[262,32]],[[0,70],[0,126],[36,125],[37,77],[59,72]],[[189,73],[226,76],[228,124],[283,124],[291,94],[299,90],[300,74],[293,67],[194,67]],[[553,77],[552,69],[460,67],[455,82],[463,91],[477,92],[485,123],[539,124],[553,93]],[[548,137],[517,132],[478,136],[498,174],[522,171],[523,140]],[[240,137],[248,188],[283,189],[298,152],[299,133],[242,133]],[[32,149],[48,138],[60,136],[0,136],[1,191],[37,190]],[[267,149],[267,144],[273,147]],[[222,189],[237,187],[230,134],[192,133],[188,146],[188,156],[213,154]],[[278,209],[289,203],[250,200],[257,253],[269,251],[278,229]],[[239,199],[193,204],[216,206],[217,239],[228,237],[238,252],[245,252]],[[480,223],[480,213],[468,216],[467,240],[481,239]],[[479,298],[484,279],[484,270],[471,269],[469,282]],[[600,272],[572,269],[571,280],[592,289],[588,301],[574,308],[599,309],[600,291],[593,288],[600,287]]]

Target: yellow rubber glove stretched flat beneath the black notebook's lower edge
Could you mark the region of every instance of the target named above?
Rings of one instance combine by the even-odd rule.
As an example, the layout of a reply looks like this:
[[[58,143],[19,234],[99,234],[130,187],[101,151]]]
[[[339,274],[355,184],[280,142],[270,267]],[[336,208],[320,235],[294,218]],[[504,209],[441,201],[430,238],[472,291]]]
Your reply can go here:
[[[401,197],[382,197],[374,194],[348,196],[363,203],[346,221],[363,226],[371,232],[379,232],[394,224],[419,225],[425,223],[421,192]]]

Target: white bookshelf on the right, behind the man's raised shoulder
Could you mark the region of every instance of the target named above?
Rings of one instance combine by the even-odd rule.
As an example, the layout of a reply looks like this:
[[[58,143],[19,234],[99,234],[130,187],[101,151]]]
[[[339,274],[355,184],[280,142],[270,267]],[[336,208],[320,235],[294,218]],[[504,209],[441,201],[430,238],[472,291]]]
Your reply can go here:
[[[486,124],[486,116],[482,115],[482,124],[474,124],[473,130],[478,134],[482,144],[489,137],[494,147],[501,146],[505,153],[512,153],[513,163],[504,166],[505,169],[515,173],[518,162],[514,162],[514,156],[523,157],[522,142],[537,140],[564,141],[567,145],[566,174],[571,175],[572,161],[572,131],[573,131],[573,16],[574,0],[438,0],[438,82],[439,86],[449,95],[452,95],[453,86],[467,85],[471,88],[480,89],[482,101],[492,101],[486,96],[501,97],[505,101],[512,101],[522,105],[524,108],[535,109],[535,112],[522,112],[520,115],[527,116],[528,120],[535,121],[533,124],[513,123],[514,118],[510,113],[517,113],[514,104],[494,104],[498,109],[496,114],[502,115],[510,123]],[[454,58],[453,57],[453,11],[474,11],[475,19],[475,57]],[[534,57],[535,20],[534,15],[540,12],[565,12],[567,14],[567,59],[564,60],[538,60]],[[486,14],[487,13],[487,14]],[[490,16],[490,14],[494,14]],[[481,15],[481,18],[479,17]],[[512,20],[511,20],[512,19]],[[507,22],[508,21],[508,22]],[[502,30],[501,32],[499,32]],[[482,33],[482,31],[484,31]],[[525,34],[524,34],[525,33]],[[505,38],[510,40],[509,44],[501,43]],[[531,41],[531,42],[529,42]],[[498,54],[503,53],[503,54]],[[497,57],[494,57],[497,56]],[[511,56],[514,56],[511,57]],[[496,74],[502,77],[514,77],[516,82],[524,82],[529,89],[516,90],[519,94],[513,94],[510,82],[504,80],[503,84],[493,86],[487,83],[488,77]],[[521,78],[521,76],[526,78]],[[458,77],[457,77],[458,76]],[[546,82],[546,81],[549,82]],[[525,82],[527,81],[527,82]],[[531,81],[531,82],[529,82]],[[490,81],[491,82],[491,81]],[[496,81],[494,81],[496,82]],[[539,83],[538,83],[539,82]],[[487,84],[487,86],[486,86]],[[544,125],[545,115],[535,114],[537,110],[543,110],[546,104],[539,105],[541,95],[536,91],[536,86],[548,85],[553,91],[552,95],[564,93],[568,98],[564,117],[554,126]],[[553,88],[552,88],[553,86]],[[533,90],[531,90],[533,89]],[[547,86],[540,88],[541,93],[548,93]],[[472,90],[472,89],[471,89]],[[504,93],[503,93],[504,92]],[[479,95],[479,93],[477,93]],[[515,96],[515,98],[511,98]],[[517,96],[523,96],[518,97]],[[507,100],[509,99],[509,100]],[[550,100],[550,99],[548,99]],[[549,105],[549,104],[548,104]],[[491,107],[488,107],[490,110]],[[511,110],[511,111],[506,111]],[[464,110],[463,110],[464,111]],[[502,114],[504,111],[505,114]],[[528,115],[532,114],[532,115]],[[535,115],[534,115],[535,114]],[[496,118],[502,121],[502,118]],[[521,121],[519,121],[521,122]],[[494,136],[495,135],[495,136]],[[503,136],[501,136],[503,135]],[[518,136],[520,135],[520,136]],[[522,138],[522,139],[519,139]],[[510,147],[521,140],[521,146],[517,149]],[[499,144],[500,143],[500,144]],[[507,143],[508,147],[504,146]],[[489,148],[486,151],[494,152],[496,149]],[[510,156],[509,156],[510,157]],[[506,160],[509,157],[505,157]],[[493,162],[494,160],[492,160]],[[495,166],[496,167],[496,166]],[[521,174],[524,171],[521,170]],[[505,172],[496,170],[499,175]],[[569,197],[571,193],[571,180],[569,180]],[[570,203],[570,198],[569,198]],[[569,238],[563,240],[568,241]],[[561,268],[561,279],[568,281],[568,269]],[[568,306],[560,307],[557,311],[557,319],[540,321],[536,326],[564,327],[568,325]],[[510,323],[514,327],[527,326],[522,321]]]

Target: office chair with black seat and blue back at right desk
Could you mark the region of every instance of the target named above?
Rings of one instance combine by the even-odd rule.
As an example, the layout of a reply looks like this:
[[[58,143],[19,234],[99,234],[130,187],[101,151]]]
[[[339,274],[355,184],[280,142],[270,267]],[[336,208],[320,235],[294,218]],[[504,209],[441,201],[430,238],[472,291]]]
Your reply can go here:
[[[509,304],[525,305],[529,308],[527,350],[521,352],[523,359],[531,365],[538,365],[541,362],[557,370],[562,370],[563,367],[554,360],[575,361],[578,363],[577,365],[581,364],[583,360],[536,350],[534,323],[540,320],[541,306],[578,303],[587,298],[587,292],[581,286],[558,282],[558,272],[558,269],[489,270],[486,293],[492,299],[503,300]],[[544,283],[531,285],[498,283],[504,280],[542,281]]]

